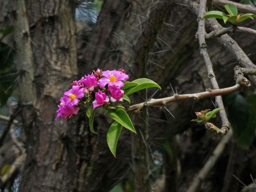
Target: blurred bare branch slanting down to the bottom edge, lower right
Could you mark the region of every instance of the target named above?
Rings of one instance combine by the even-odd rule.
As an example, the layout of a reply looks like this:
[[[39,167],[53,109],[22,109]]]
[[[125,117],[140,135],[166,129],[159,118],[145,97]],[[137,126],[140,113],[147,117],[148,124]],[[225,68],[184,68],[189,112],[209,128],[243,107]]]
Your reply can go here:
[[[198,189],[198,186],[202,180],[206,178],[206,176],[209,174],[210,170],[214,167],[217,160],[220,158],[220,155],[224,151],[224,148],[226,144],[229,142],[229,140],[232,137],[232,131],[228,131],[228,134],[226,134],[225,137],[222,137],[219,144],[216,146],[215,150],[213,151],[210,158],[206,161],[206,164],[204,164],[203,168],[200,170],[200,172],[197,174],[197,176],[192,181],[192,184],[189,186],[187,192],[196,192]]]

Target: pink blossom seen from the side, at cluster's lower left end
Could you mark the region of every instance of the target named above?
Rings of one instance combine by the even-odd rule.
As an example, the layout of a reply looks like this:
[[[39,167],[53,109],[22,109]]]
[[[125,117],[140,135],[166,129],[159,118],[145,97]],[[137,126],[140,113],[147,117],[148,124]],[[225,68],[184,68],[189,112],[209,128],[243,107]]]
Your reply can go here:
[[[58,105],[59,109],[57,110],[57,116],[55,118],[55,120],[58,119],[58,117],[60,116],[62,119],[67,120],[68,117],[70,117],[72,114],[77,114],[79,111],[79,107],[76,107],[74,105],[70,105],[68,104],[68,97],[64,96],[62,98],[60,98],[60,105]]]

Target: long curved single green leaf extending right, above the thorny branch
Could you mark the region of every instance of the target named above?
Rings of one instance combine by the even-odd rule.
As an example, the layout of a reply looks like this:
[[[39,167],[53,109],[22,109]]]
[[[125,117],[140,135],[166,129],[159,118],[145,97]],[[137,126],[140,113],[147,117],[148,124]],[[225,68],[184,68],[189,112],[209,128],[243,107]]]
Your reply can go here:
[[[135,87],[129,88],[129,90],[125,92],[126,95],[130,95],[142,89],[151,88],[151,87],[156,87],[161,89],[161,87],[156,82],[147,78],[136,79],[132,82],[138,83],[138,85]]]

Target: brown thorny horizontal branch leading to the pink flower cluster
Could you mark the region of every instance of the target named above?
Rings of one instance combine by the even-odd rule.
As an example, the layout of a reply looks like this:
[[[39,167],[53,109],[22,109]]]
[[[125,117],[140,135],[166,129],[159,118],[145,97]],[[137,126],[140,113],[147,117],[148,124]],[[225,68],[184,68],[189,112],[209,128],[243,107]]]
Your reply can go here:
[[[244,85],[242,82],[239,82],[239,83],[241,85]],[[183,94],[183,95],[175,94],[174,96],[171,96],[171,97],[160,98],[160,99],[150,99],[147,102],[134,104],[132,106],[126,106],[126,111],[134,111],[135,113],[137,113],[143,107],[147,107],[147,106],[155,106],[155,105],[163,106],[171,102],[180,101],[180,100],[200,100],[208,97],[225,95],[225,94],[239,91],[241,88],[240,84],[236,84],[232,87],[222,88],[222,89],[208,89],[205,92],[200,92],[200,93]],[[249,85],[245,85],[245,86],[249,86]]]

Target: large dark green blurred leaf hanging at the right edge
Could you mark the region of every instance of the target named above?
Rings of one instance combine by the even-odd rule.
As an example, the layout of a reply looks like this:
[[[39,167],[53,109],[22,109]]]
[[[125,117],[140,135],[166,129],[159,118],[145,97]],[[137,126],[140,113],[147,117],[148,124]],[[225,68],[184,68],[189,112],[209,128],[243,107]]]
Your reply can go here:
[[[247,149],[256,128],[256,95],[248,95],[246,100],[240,93],[232,93],[225,102],[234,138],[241,148]]]

